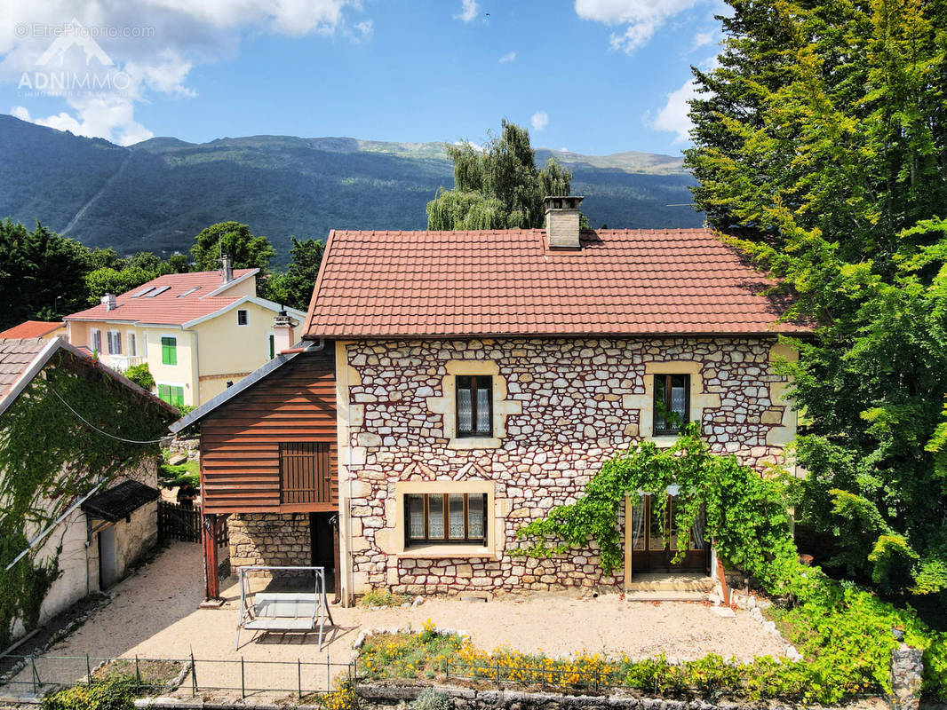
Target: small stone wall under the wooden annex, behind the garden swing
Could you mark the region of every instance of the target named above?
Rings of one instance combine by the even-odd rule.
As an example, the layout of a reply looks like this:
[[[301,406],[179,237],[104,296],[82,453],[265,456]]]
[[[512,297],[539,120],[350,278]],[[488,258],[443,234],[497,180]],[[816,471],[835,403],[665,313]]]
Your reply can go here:
[[[251,564],[312,563],[308,513],[238,513],[227,519],[227,526],[233,570]]]

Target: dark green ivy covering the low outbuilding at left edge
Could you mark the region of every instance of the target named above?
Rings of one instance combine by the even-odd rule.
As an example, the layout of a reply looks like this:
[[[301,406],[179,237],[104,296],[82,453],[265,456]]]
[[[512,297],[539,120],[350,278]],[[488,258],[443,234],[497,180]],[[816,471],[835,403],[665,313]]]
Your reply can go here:
[[[27,629],[38,623],[59,575],[58,553],[37,559],[34,552],[5,571],[9,562],[78,496],[158,453],[156,444],[129,444],[94,431],[57,393],[99,429],[122,438],[155,439],[166,433],[170,418],[123,383],[63,352],[0,418],[0,649],[8,646],[17,619]]]

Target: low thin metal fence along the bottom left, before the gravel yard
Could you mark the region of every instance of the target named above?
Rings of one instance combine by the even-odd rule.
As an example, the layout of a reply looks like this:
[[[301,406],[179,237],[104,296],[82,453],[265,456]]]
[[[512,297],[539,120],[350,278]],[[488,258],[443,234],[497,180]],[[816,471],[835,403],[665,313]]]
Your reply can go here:
[[[10,666],[0,676],[0,698],[37,698],[73,685],[93,685],[118,673],[142,694],[188,690],[239,692],[241,698],[258,693],[304,698],[331,691],[340,675],[355,676],[350,663],[324,661],[258,661],[197,658],[100,658],[96,656],[5,656]],[[156,668],[160,671],[157,672]]]

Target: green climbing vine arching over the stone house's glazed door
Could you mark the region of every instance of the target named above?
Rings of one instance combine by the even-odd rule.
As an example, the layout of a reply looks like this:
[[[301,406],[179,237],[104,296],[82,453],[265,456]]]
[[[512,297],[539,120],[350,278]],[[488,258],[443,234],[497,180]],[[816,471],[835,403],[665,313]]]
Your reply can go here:
[[[710,453],[694,423],[684,427],[668,449],[644,441],[606,461],[574,505],[555,507],[546,518],[520,528],[517,535],[525,544],[513,554],[562,555],[587,545],[591,538],[599,543],[602,568],[612,573],[623,559],[618,519],[625,497],[634,501],[639,494],[652,494],[654,509],[666,511],[670,486],[679,488],[676,527],[689,530],[703,506],[706,538],[731,565],[773,584],[785,579],[788,569],[795,569],[783,479],[762,477],[734,456]],[[662,520],[667,524],[666,515]],[[688,536],[678,535],[677,544],[680,559]]]

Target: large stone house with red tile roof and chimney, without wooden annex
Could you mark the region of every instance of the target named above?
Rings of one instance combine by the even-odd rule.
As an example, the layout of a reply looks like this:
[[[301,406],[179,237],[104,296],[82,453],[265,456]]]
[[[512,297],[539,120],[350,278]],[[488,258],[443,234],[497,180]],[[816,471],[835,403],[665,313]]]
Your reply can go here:
[[[782,459],[795,413],[774,365],[793,352],[777,338],[804,328],[709,231],[580,231],[580,202],[547,198],[546,229],[331,232],[302,338],[334,359],[343,598],[706,572],[709,542],[674,528],[673,495],[664,522],[629,502],[623,576],[604,576],[594,547],[510,552],[609,456],[670,445],[681,420],[751,466]],[[669,530],[690,538],[673,567]]]

